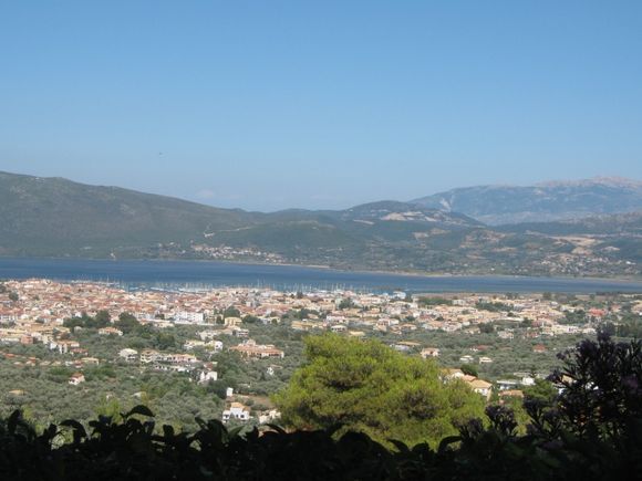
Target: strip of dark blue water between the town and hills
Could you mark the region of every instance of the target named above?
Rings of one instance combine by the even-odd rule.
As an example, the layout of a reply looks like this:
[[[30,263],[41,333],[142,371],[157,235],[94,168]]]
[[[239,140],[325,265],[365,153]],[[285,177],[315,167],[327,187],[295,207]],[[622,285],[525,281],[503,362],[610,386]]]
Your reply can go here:
[[[0,279],[101,281],[128,289],[272,287],[284,291],[642,293],[642,282],[506,275],[403,275],[293,265],[209,261],[110,261],[0,258]]]

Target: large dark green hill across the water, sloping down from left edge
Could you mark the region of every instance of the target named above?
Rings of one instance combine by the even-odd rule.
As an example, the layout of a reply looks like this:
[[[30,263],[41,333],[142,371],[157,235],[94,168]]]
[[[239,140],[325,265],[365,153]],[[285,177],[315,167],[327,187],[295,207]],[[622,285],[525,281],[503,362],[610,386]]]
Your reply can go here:
[[[257,216],[118,187],[0,172],[0,252],[85,255],[185,242]]]

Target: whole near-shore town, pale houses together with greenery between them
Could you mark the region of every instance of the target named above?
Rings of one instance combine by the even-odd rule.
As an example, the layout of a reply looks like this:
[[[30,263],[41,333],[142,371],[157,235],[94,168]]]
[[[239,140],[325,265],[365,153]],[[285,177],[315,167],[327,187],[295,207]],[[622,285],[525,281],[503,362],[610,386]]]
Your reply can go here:
[[[186,379],[215,386],[224,422],[262,424],[278,418],[269,396],[302,362],[309,334],[379,338],[437,360],[444,380],[462,379],[490,400],[521,397],[555,366],[556,353],[641,313],[635,295],[128,291],[32,279],[0,283],[0,364],[58,373],[72,393],[93,373],[106,400],[121,377]],[[28,404],[28,385],[6,379],[2,387],[12,406]],[[146,389],[132,387],[131,396],[149,400]]]

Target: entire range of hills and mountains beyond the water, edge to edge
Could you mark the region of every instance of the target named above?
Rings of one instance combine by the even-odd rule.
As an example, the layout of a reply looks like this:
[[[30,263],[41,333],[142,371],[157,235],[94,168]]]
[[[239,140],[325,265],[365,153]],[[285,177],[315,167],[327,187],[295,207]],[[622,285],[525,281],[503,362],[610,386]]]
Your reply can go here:
[[[563,192],[571,200],[560,200],[556,208],[551,199],[562,199]],[[0,172],[0,254],[631,276],[642,273],[642,215],[635,212],[642,211],[641,192],[633,181],[593,179],[530,188],[473,187],[345,210],[265,213]],[[572,212],[589,217],[549,221]],[[499,222],[509,216],[540,222]]]

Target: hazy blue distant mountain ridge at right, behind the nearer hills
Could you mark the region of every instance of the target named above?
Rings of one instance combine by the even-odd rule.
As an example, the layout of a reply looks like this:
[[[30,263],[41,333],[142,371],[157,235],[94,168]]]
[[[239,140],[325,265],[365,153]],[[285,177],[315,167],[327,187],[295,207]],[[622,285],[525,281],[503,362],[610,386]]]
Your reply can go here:
[[[548,222],[642,210],[642,182],[617,177],[535,186],[456,188],[412,202],[460,212],[489,226]]]

